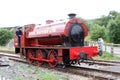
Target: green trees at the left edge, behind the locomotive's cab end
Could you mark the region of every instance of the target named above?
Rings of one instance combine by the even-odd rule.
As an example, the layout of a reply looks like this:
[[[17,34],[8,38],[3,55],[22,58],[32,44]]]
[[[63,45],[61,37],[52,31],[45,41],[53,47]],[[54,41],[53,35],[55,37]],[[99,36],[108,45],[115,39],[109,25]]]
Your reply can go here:
[[[13,38],[15,30],[0,29],[0,45],[5,45],[10,39]]]

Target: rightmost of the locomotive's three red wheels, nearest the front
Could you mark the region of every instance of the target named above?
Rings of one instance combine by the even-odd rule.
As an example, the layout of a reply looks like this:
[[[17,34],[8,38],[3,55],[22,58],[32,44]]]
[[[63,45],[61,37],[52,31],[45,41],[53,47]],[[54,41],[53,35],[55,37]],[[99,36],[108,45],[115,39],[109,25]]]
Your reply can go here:
[[[54,50],[50,50],[48,52],[48,60],[53,60],[54,62],[49,62],[50,67],[55,67],[57,66],[57,53]]]

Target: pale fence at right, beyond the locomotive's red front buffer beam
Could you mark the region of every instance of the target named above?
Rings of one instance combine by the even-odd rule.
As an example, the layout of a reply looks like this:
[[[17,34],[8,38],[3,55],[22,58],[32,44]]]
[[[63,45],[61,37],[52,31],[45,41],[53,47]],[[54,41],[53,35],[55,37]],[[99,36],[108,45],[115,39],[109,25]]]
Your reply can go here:
[[[98,43],[91,41],[91,42],[85,42],[85,45],[98,46]],[[107,52],[111,53],[112,55],[120,54],[120,44],[105,43],[103,46],[103,51],[107,51]]]

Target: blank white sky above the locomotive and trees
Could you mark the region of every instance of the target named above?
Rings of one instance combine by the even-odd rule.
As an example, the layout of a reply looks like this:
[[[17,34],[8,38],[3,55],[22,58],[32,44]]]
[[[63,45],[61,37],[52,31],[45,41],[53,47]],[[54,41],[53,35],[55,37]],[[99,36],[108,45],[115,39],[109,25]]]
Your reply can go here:
[[[120,12],[120,0],[0,0],[0,27],[42,24],[76,13],[84,19]]]

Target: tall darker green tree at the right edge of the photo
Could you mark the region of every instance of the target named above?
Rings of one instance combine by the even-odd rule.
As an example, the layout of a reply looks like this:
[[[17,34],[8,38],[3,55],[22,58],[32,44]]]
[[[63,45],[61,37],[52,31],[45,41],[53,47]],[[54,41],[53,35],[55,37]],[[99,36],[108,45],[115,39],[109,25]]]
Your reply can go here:
[[[111,19],[106,29],[107,36],[110,42],[120,44],[120,14],[115,18]]]

